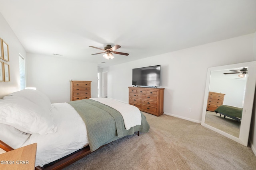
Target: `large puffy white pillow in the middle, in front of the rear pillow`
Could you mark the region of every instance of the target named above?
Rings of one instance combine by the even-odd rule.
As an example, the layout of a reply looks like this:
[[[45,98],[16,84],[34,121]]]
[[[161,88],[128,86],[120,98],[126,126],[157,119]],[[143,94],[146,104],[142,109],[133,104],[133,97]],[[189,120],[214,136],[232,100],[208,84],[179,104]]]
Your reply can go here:
[[[49,111],[18,96],[5,96],[0,101],[0,123],[25,133],[55,133],[57,130]]]

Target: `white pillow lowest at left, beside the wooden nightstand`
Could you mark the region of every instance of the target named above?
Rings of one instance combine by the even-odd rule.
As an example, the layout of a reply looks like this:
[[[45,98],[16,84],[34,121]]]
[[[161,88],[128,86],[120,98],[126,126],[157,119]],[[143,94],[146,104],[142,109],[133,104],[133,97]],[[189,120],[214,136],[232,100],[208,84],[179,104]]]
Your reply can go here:
[[[20,148],[28,139],[29,135],[10,125],[0,123],[0,140],[13,149]]]

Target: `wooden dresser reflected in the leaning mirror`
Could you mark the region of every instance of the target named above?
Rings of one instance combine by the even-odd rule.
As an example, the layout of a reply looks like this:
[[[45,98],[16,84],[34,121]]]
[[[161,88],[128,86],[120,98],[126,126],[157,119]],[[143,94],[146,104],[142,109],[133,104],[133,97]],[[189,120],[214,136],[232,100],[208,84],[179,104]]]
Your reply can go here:
[[[223,104],[225,94],[209,92],[207,109],[208,111],[214,111],[220,105]]]

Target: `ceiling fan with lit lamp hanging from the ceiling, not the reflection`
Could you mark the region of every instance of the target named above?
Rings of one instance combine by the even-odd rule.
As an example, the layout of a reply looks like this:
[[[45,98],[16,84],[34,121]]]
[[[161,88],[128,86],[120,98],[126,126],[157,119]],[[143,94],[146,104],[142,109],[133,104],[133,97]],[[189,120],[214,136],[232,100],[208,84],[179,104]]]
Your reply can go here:
[[[93,47],[93,46],[89,46],[89,47],[92,47],[92,48],[95,48],[95,49],[100,49],[100,50],[103,50],[104,52],[101,52],[101,53],[95,53],[95,54],[92,54],[92,55],[96,55],[96,54],[102,54],[102,53],[106,53],[103,55],[103,57],[105,59],[114,59],[114,56],[112,55],[112,53],[114,54],[120,54],[120,55],[129,55],[128,53],[121,53],[121,52],[117,52],[115,51],[116,49],[119,49],[121,46],[120,45],[115,45],[114,47],[111,47],[111,45],[107,45],[106,47],[104,47],[104,49],[101,49],[101,48],[98,48],[98,47]]]

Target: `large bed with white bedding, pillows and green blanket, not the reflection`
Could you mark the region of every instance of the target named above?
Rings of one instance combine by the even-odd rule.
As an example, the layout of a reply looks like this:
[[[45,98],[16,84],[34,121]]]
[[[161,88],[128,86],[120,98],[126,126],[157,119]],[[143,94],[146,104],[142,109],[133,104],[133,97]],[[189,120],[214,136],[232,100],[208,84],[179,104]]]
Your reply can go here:
[[[26,89],[0,100],[0,147],[8,151],[37,143],[36,169],[62,169],[149,128],[137,107],[108,98],[51,104],[40,91]]]

